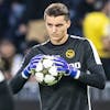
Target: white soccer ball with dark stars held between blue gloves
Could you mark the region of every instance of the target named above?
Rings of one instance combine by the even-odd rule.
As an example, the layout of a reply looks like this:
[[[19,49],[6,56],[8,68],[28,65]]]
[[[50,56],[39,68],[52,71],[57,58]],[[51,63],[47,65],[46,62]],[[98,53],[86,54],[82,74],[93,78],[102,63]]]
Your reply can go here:
[[[52,86],[59,81],[63,73],[57,72],[53,58],[55,56],[44,55],[34,69],[34,76],[37,82],[44,86]]]

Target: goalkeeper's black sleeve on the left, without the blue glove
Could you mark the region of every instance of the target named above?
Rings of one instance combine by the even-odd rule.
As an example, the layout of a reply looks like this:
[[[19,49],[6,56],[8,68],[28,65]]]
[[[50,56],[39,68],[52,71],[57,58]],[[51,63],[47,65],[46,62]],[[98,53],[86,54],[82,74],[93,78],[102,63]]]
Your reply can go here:
[[[22,70],[25,68],[25,66],[29,64],[30,59],[33,57],[34,52],[33,48],[25,55],[22,66],[19,69],[19,72],[16,73],[16,75],[10,80],[9,85],[12,88],[12,92],[13,94],[18,94],[22,87],[24,86],[24,84],[28,81],[28,79],[22,77]]]

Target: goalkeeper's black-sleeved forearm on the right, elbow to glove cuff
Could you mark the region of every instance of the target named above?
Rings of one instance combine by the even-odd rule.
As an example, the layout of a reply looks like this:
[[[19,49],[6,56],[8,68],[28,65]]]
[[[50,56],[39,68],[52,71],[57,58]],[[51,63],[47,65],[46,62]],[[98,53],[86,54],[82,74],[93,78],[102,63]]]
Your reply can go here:
[[[101,67],[99,67],[99,69],[97,67],[94,67],[94,70],[90,74],[81,72],[78,80],[88,86],[92,86],[99,89],[103,89],[106,86],[106,76]]]

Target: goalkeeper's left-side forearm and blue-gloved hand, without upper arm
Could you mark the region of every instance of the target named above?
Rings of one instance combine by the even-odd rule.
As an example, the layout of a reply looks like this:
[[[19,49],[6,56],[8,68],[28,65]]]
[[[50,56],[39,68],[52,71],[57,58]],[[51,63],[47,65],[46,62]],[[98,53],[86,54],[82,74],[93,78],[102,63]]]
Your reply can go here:
[[[36,68],[37,63],[41,61],[43,55],[38,54],[32,57],[26,66],[21,67],[21,69],[18,72],[16,76],[10,81],[11,88],[13,94],[16,94],[22,89],[26,80],[30,78],[32,73],[32,69]],[[28,57],[29,58],[29,57]],[[24,61],[24,65],[26,64]]]

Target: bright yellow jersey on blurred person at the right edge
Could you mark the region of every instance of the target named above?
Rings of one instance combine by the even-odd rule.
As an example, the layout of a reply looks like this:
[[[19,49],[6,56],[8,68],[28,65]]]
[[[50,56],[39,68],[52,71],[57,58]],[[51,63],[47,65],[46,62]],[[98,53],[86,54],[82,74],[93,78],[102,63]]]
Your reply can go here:
[[[107,36],[110,19],[102,12],[91,12],[82,22],[84,35],[95,44],[100,57],[110,57],[110,52],[103,51],[102,37]]]

